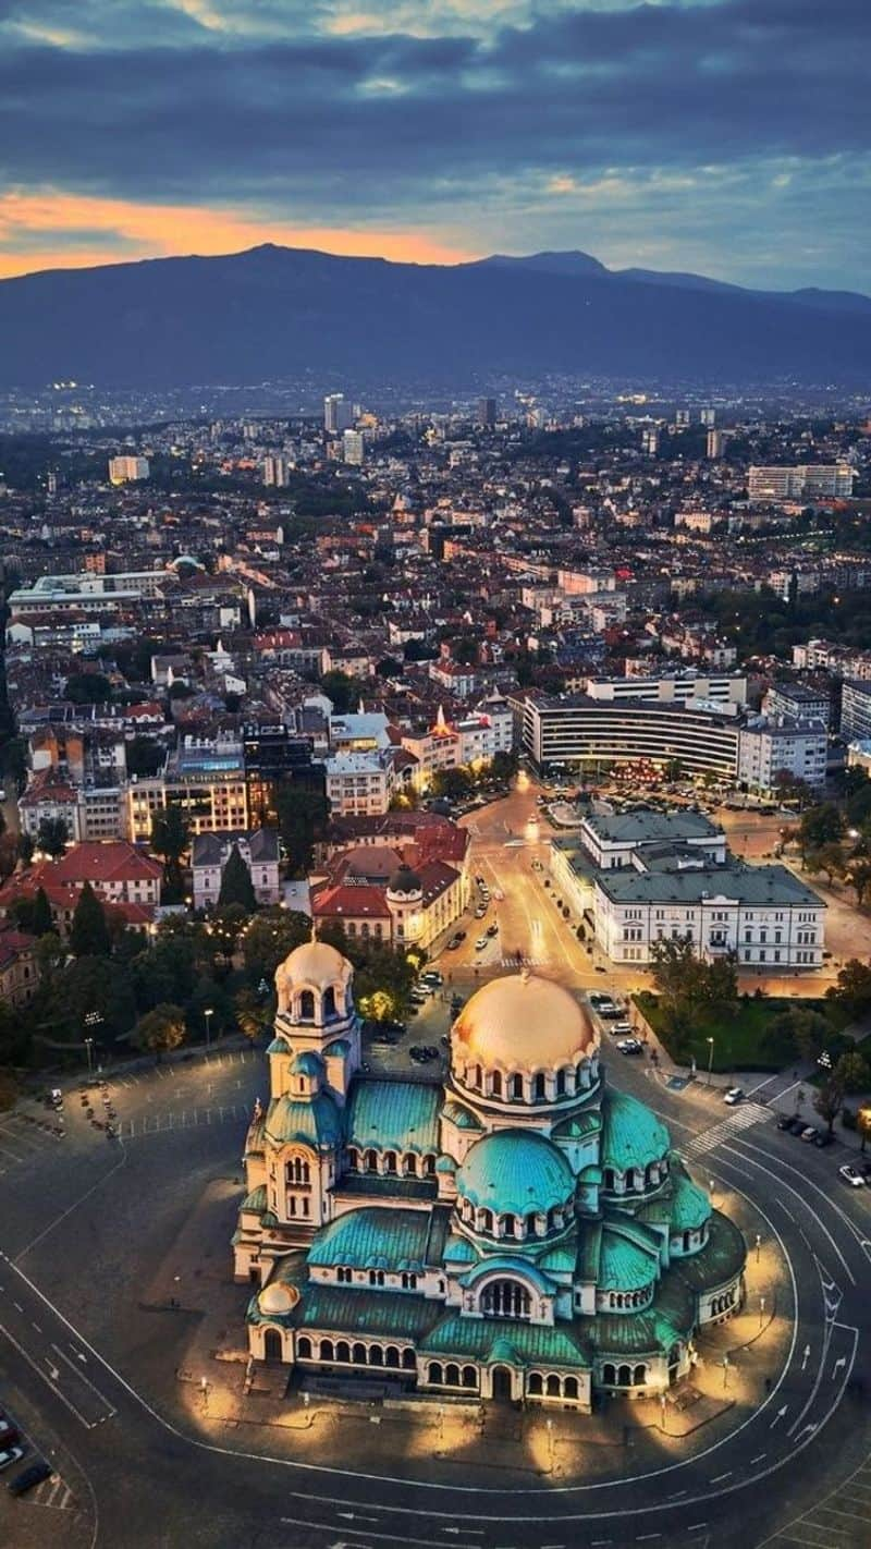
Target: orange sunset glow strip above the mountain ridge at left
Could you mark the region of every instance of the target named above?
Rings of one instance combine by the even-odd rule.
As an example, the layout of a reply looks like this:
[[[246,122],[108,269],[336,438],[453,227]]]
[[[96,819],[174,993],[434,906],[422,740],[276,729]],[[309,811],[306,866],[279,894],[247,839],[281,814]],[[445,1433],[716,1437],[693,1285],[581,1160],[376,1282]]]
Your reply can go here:
[[[63,242],[65,231],[70,232],[70,248]],[[124,245],[114,248],[113,239],[124,239]],[[0,195],[0,279],[139,257],[238,252],[260,242],[410,263],[456,263],[472,256],[412,231],[291,226],[266,218],[244,220],[193,204],[135,204],[53,189]]]

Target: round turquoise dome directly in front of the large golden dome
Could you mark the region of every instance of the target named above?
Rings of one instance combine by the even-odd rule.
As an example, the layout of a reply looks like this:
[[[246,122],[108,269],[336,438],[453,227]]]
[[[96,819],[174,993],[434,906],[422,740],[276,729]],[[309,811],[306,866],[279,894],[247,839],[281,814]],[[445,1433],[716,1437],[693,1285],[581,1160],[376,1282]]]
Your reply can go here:
[[[456,1174],[456,1193],[494,1214],[546,1214],[574,1194],[574,1174],[562,1151],[528,1129],[497,1129],[472,1146]]]

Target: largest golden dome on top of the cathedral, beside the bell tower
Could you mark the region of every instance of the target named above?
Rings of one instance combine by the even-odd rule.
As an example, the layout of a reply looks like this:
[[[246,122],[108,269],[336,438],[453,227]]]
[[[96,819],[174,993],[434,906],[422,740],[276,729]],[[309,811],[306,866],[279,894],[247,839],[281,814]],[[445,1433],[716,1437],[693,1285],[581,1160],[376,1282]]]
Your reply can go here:
[[[552,979],[509,974],[492,979],[466,1002],[453,1024],[455,1061],[501,1070],[555,1070],[597,1046],[589,1013]]]

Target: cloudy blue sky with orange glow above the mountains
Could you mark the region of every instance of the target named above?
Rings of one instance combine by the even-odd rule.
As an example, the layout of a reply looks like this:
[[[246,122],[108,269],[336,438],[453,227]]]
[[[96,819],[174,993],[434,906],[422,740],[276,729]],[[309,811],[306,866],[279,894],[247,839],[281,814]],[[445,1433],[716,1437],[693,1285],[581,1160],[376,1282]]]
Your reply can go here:
[[[0,0],[0,277],[260,242],[871,291],[868,0]]]

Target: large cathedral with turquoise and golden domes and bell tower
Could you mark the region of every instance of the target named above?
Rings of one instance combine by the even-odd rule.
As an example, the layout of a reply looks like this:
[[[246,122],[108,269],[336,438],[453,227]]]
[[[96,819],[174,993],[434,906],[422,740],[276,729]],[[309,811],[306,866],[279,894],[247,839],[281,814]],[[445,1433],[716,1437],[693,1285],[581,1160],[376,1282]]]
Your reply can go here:
[[[252,1355],[306,1385],[353,1371],[579,1410],[665,1391],[739,1306],[746,1245],[608,1086],[586,1008],[495,979],[453,1024],[444,1086],[385,1080],[360,1069],[351,977],[317,940],[275,974],[234,1236]]]

